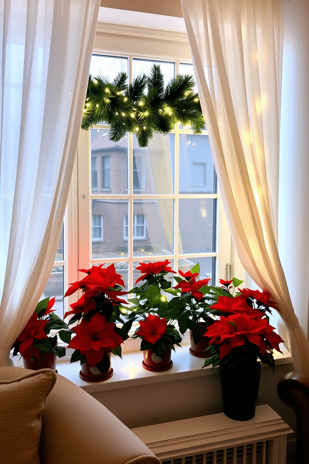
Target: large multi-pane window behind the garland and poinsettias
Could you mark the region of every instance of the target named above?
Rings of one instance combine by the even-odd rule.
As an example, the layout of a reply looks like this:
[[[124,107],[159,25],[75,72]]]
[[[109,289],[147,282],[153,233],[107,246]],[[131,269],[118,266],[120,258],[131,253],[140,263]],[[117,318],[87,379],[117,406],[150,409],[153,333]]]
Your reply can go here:
[[[179,61],[95,55],[90,73],[114,78],[124,71],[134,78],[149,74],[154,63],[161,65],[165,84],[181,66]],[[192,65],[185,69],[193,72]],[[155,134],[146,148],[132,134],[110,141],[104,122],[81,137],[80,267],[113,262],[130,289],[139,277],[139,262],[168,258],[182,271],[199,262],[200,278],[214,282],[218,195],[207,130],[193,135],[178,123],[168,135]]]

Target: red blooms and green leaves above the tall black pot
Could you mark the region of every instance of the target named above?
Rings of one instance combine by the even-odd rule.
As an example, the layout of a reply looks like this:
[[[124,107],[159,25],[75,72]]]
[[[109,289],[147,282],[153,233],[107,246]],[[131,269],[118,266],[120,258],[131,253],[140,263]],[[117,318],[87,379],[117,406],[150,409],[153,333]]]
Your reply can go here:
[[[205,336],[210,338],[211,357],[204,366],[220,365],[236,372],[253,371],[257,360],[274,369],[273,350],[281,352],[281,337],[274,332],[266,311],[277,308],[267,291],[244,289],[235,291],[238,280],[221,281],[223,294],[214,288],[217,301],[211,306],[213,315],[220,315],[208,327]],[[231,292],[230,290],[233,291]],[[221,294],[220,294],[221,293]]]

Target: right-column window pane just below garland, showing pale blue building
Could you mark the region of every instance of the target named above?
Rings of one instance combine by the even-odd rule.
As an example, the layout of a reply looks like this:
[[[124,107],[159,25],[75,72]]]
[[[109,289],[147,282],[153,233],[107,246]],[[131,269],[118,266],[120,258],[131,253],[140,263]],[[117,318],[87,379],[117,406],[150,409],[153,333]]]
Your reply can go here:
[[[214,193],[208,135],[179,135],[179,193]]]

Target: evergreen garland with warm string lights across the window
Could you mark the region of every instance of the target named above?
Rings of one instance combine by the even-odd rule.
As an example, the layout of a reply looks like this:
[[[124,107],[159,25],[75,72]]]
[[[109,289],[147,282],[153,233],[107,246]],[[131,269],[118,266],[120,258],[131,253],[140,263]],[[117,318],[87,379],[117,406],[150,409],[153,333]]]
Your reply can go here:
[[[82,129],[105,121],[111,126],[110,140],[118,142],[132,132],[140,147],[147,147],[154,132],[170,132],[176,122],[190,124],[194,134],[201,134],[205,122],[192,76],[177,74],[164,90],[160,66],[154,64],[150,77],[138,76],[129,87],[126,82],[124,72],[112,83],[89,76]]]

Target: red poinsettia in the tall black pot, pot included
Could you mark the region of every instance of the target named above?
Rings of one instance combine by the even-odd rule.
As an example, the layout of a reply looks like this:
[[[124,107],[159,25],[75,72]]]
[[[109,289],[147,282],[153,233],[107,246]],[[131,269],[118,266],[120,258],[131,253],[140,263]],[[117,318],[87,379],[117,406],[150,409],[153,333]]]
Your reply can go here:
[[[269,324],[265,311],[270,311],[268,292],[241,290],[236,296],[218,296],[212,306],[221,312],[220,319],[206,331],[210,338],[211,357],[204,366],[220,367],[223,412],[235,420],[249,420],[255,415],[261,365],[274,370],[273,350],[280,351],[281,337]]]

